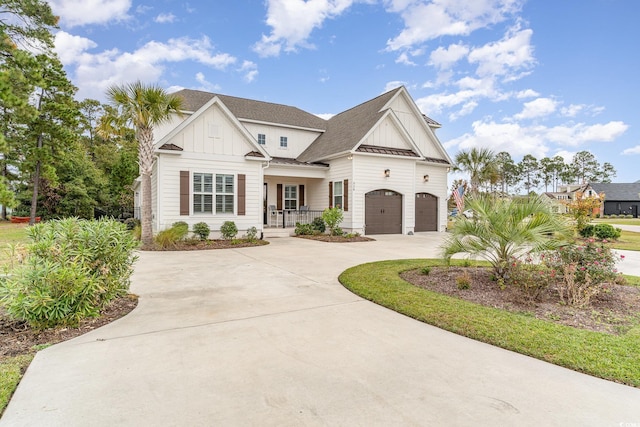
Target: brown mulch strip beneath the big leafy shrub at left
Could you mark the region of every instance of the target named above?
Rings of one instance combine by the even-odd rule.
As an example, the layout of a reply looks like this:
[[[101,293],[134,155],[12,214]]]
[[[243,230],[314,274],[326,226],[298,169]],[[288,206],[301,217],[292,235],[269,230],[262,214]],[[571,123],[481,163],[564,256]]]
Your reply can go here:
[[[129,314],[137,305],[138,297],[129,294],[116,298],[102,311],[100,317],[83,320],[77,328],[56,328],[44,331],[36,331],[25,322],[12,320],[0,308],[0,361],[7,357],[32,353],[36,345],[56,344],[86,334]]]

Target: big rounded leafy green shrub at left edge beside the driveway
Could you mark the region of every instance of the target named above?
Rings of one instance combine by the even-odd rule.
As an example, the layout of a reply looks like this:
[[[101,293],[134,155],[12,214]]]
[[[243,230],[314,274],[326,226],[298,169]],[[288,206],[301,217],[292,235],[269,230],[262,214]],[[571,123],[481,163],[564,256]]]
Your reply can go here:
[[[29,227],[27,236],[27,259],[0,283],[12,317],[38,329],[73,326],[129,289],[138,242],[124,224],[68,218]]]

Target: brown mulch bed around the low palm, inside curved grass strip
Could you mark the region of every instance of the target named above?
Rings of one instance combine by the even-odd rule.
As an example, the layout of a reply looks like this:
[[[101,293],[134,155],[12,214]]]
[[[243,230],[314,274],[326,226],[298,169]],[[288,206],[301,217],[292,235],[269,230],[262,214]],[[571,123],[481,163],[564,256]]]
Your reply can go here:
[[[456,279],[465,271],[471,277],[470,288],[458,289]],[[607,284],[607,292],[592,298],[591,305],[580,308],[562,304],[556,289],[546,289],[537,301],[514,286],[500,289],[491,280],[491,270],[484,267],[431,267],[428,275],[412,270],[401,277],[433,292],[596,332],[624,334],[640,319],[640,288],[633,286]]]

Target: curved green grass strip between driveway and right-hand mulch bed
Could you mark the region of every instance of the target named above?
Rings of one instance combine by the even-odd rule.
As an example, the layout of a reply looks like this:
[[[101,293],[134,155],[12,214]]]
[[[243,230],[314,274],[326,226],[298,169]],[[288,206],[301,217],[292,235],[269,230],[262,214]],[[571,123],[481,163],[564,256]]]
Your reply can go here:
[[[640,387],[640,325],[615,336],[571,328],[473,304],[413,286],[405,270],[441,265],[441,260],[363,264],[340,275],[349,290],[399,313],[478,341],[578,372]]]

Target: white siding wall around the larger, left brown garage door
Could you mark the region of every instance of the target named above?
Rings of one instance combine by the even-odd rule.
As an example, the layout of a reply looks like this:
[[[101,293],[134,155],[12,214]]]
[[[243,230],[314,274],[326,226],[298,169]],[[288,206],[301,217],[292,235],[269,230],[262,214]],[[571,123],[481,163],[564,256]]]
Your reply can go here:
[[[352,228],[366,234],[365,194],[373,190],[393,190],[402,194],[402,234],[413,231],[415,226],[415,177],[416,161],[367,155],[353,156],[354,179],[351,194]],[[389,178],[384,176],[390,170]]]

